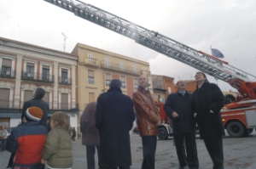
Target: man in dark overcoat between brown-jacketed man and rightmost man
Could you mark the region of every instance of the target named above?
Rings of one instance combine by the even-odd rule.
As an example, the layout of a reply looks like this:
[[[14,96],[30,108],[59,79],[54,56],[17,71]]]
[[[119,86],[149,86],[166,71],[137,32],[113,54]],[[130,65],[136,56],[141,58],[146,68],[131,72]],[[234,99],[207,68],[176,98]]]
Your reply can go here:
[[[191,109],[192,94],[186,91],[186,82],[177,82],[177,93],[170,94],[164,109],[172,119],[173,138],[176,144],[179,169],[189,165],[189,169],[198,169],[199,162],[195,143],[195,121]],[[183,143],[185,141],[185,155]]]

